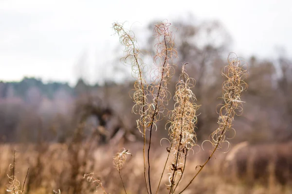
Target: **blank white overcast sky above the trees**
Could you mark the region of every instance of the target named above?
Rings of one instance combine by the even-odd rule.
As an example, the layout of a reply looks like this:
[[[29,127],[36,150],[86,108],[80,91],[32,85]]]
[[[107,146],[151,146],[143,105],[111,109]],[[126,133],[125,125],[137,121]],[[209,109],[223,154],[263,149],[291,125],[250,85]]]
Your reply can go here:
[[[292,0],[0,0],[0,80],[98,81],[117,57],[112,22],[143,29],[188,13],[221,21],[240,56],[275,57],[283,47],[292,57]]]

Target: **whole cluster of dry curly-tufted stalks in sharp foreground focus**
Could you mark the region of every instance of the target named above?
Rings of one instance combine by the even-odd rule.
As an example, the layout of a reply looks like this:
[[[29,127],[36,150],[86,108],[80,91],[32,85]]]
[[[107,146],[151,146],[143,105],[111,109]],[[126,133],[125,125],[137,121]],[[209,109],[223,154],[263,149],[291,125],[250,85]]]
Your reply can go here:
[[[197,172],[193,178],[182,181],[187,156],[190,150],[193,151],[194,146],[199,146],[197,144],[195,125],[197,123],[197,110],[200,105],[195,103],[196,97],[192,91],[192,88],[195,87],[195,80],[189,78],[185,70],[186,64],[183,64],[173,97],[175,101],[174,108],[172,111],[166,109],[166,105],[171,99],[167,85],[174,74],[175,68],[178,68],[176,65],[178,53],[175,48],[175,36],[171,30],[171,25],[168,22],[160,22],[154,26],[154,36],[157,44],[155,45],[156,53],[151,67],[143,62],[142,51],[139,49],[135,34],[131,30],[124,28],[121,23],[113,23],[113,29],[119,35],[120,43],[125,47],[125,55],[122,59],[124,63],[131,65],[132,75],[136,79],[132,96],[135,104],[132,112],[140,115],[140,118],[136,121],[137,128],[144,137],[143,158],[146,191],[148,194],[154,193],[153,182],[151,181],[151,140],[153,139],[154,131],[158,130],[157,122],[168,116],[169,121],[165,129],[168,130],[169,137],[167,140],[170,145],[166,147],[168,154],[160,179],[156,180],[158,186],[155,193],[158,193],[162,185],[162,178],[168,165],[169,172],[167,176],[169,183],[166,184],[167,192],[174,194],[179,188],[178,186],[184,185],[183,182],[185,182],[184,186],[180,186],[183,189],[177,192],[181,194],[200,174],[205,165],[214,156],[216,150],[222,147],[222,144],[226,143],[229,147],[229,142],[226,140],[226,132],[229,130],[235,132],[232,122],[235,115],[242,113],[241,92],[247,89],[247,84],[243,81],[246,77],[244,63],[237,56],[231,58],[231,54],[229,54],[228,65],[222,70],[222,75],[226,81],[222,84],[222,99],[224,103],[218,105],[219,127],[212,132],[209,140],[204,141],[211,143],[213,149],[207,160],[197,166]],[[114,166],[119,171],[125,192],[126,188],[120,169],[126,161],[127,153],[128,150],[124,149],[114,157]]]

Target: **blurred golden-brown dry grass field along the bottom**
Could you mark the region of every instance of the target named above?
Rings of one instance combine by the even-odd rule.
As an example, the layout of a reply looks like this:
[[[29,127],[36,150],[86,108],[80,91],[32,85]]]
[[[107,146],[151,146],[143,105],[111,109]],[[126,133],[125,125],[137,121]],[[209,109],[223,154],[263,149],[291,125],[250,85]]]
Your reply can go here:
[[[281,146],[285,146],[282,149]],[[130,147],[132,156],[127,158],[122,170],[122,177],[128,194],[144,194],[145,183],[143,178],[143,145],[133,144]],[[264,147],[265,149],[262,149]],[[248,146],[246,144],[234,146],[227,154],[216,154],[208,163],[207,168],[184,192],[185,194],[291,194],[292,188],[292,143],[287,145]],[[124,189],[118,172],[113,168],[112,156],[117,147],[102,146],[91,150],[84,162],[85,150],[80,147],[76,160],[72,160],[72,151],[65,144],[51,144],[39,147],[37,145],[1,145],[0,155],[0,194],[7,194],[6,186],[9,183],[7,175],[13,163],[13,153],[16,149],[15,177],[21,187],[27,168],[29,174],[25,183],[25,193],[52,194],[53,190],[60,189],[62,194],[102,194],[102,188],[96,187],[102,183],[108,194],[123,194]],[[274,152],[274,150],[277,150]],[[264,151],[262,151],[264,150]],[[274,154],[276,153],[276,154]],[[271,155],[274,155],[271,157]],[[190,155],[186,162],[187,171],[183,180],[189,180],[201,164],[207,153],[202,150],[198,154]],[[166,158],[165,150],[158,148],[153,153],[154,187],[157,186],[163,161]],[[286,162],[285,162],[286,161]],[[93,178],[100,182],[89,182],[84,174],[94,173]],[[163,183],[167,183],[167,176]],[[182,186],[185,184],[183,181]],[[166,193],[161,189],[159,193]]]

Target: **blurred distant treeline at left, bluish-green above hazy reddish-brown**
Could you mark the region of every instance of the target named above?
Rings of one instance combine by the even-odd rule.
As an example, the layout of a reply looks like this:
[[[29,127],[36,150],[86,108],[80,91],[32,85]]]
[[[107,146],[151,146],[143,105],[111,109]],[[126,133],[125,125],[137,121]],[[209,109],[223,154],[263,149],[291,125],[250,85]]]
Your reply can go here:
[[[89,97],[96,106],[96,100],[109,99],[105,95],[111,89],[106,88],[112,86],[116,83],[90,85],[82,79],[73,87],[27,77],[19,82],[0,81],[0,142],[63,142],[73,134],[78,115],[87,111],[82,106]]]

